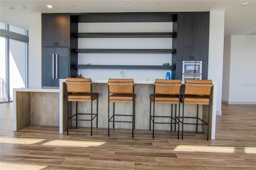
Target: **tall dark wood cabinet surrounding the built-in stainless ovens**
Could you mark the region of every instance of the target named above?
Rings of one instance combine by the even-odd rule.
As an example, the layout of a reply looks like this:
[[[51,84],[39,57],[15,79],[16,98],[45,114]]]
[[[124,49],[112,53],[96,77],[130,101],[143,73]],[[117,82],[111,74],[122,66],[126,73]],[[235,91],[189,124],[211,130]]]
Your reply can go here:
[[[172,38],[172,79],[182,79],[182,61],[197,60],[202,62],[202,79],[207,79],[209,12],[179,12],[173,22]]]

